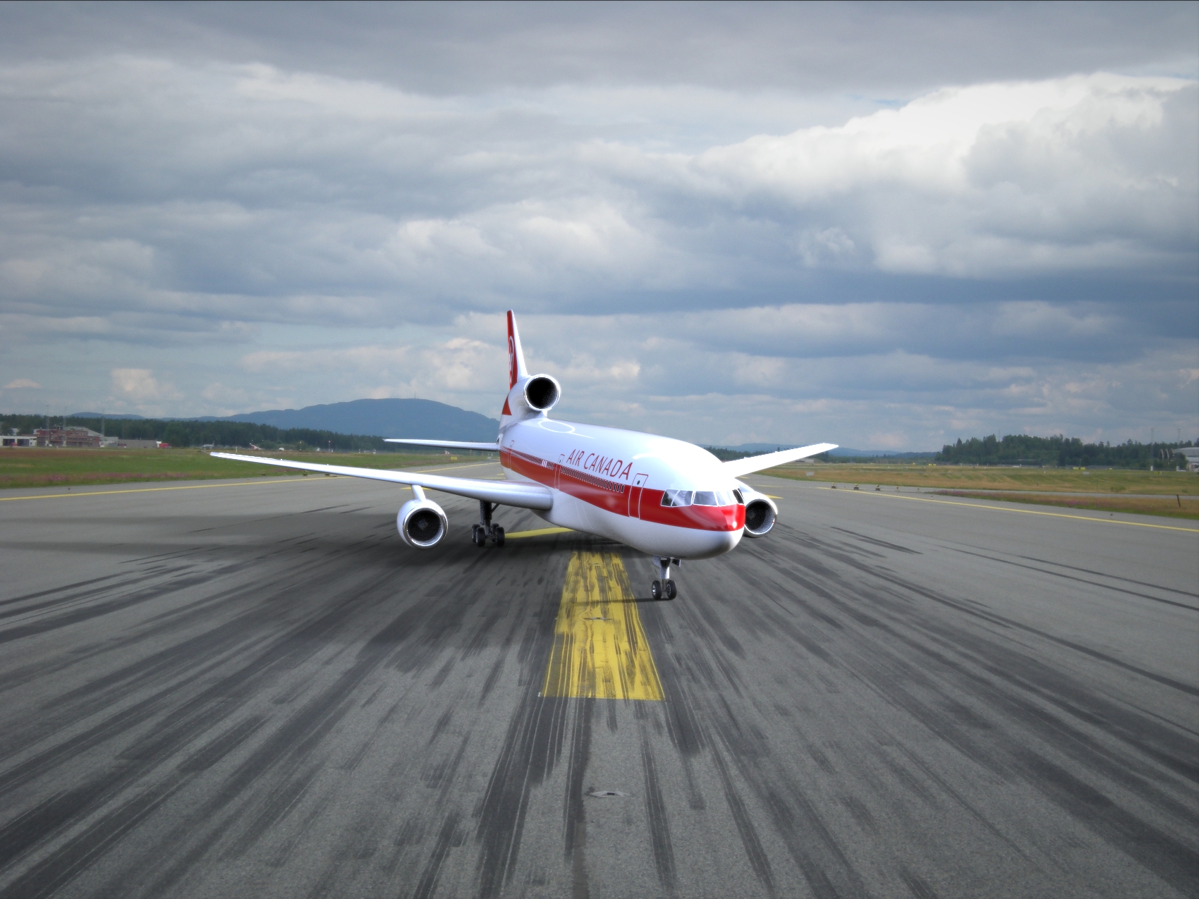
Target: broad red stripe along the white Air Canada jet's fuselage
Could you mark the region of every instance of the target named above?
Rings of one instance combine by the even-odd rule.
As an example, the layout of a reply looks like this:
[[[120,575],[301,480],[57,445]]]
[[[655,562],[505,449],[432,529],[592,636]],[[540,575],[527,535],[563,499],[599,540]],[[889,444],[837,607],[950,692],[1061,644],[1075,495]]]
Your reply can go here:
[[[745,506],[663,506],[663,490],[650,490],[594,478],[596,482],[610,483],[613,488],[619,488],[605,489],[591,483],[592,478],[590,477],[584,481],[577,477],[571,469],[529,453],[501,448],[500,465],[530,481],[536,481],[538,484],[555,488],[596,508],[626,518],[640,518],[643,521],[689,527],[695,531],[739,531],[746,524]],[[632,515],[629,515],[631,506]],[[638,508],[640,509],[639,515]]]

